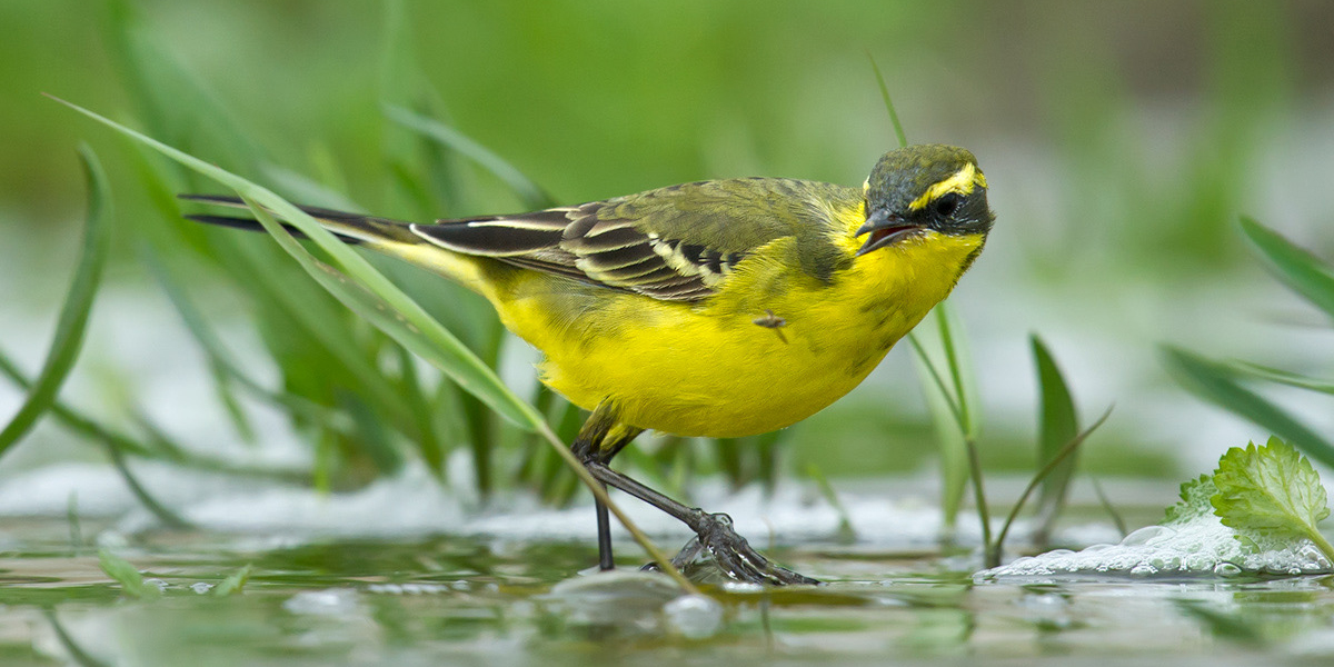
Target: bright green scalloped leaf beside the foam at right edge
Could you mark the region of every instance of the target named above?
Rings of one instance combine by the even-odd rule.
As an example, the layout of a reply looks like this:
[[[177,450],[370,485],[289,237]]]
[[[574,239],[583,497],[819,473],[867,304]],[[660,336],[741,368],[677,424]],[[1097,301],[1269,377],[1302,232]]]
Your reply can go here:
[[[1281,540],[1309,539],[1334,562],[1334,547],[1317,524],[1329,516],[1321,476],[1295,448],[1278,438],[1263,447],[1233,447],[1214,471],[1214,514],[1241,534]]]

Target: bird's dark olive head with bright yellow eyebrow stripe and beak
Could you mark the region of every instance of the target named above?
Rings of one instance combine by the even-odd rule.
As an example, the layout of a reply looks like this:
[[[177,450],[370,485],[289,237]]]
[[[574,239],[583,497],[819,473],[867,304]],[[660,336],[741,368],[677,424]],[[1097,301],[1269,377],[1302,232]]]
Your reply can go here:
[[[926,232],[986,236],[995,215],[987,208],[987,179],[968,151],[943,144],[890,151],[866,179],[866,236],[856,255]]]

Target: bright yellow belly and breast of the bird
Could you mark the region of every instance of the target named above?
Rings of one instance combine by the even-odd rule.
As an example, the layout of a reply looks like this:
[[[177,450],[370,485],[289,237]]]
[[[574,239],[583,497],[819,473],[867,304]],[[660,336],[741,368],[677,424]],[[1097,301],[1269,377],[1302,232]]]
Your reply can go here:
[[[576,406],[611,400],[640,428],[744,436],[800,422],[856,387],[948,295],[980,244],[927,233],[858,257],[831,284],[762,268],[703,304],[607,289],[582,304],[560,293],[570,283],[542,275],[494,301],[546,355],[543,382]],[[779,273],[790,280],[775,289]],[[755,324],[766,311],[786,324]]]

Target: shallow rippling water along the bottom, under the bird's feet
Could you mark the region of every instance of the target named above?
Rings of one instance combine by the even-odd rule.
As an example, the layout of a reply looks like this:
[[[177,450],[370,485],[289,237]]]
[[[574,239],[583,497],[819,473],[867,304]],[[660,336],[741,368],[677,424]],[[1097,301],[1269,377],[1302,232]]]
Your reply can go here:
[[[968,554],[803,547],[778,559],[819,588],[707,587],[579,574],[586,542],[484,538],[291,543],[80,527],[159,579],[132,600],[59,519],[9,519],[0,664],[1322,664],[1334,578],[975,582]],[[285,542],[285,544],[284,544]],[[239,595],[207,586],[244,564]],[[61,634],[67,639],[61,639]]]

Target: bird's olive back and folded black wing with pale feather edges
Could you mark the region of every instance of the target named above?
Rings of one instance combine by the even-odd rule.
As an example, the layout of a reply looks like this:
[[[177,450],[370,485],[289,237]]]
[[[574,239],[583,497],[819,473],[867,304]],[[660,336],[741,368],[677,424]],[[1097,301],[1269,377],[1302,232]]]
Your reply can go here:
[[[698,181],[514,216],[415,224],[424,240],[654,299],[715,293],[760,245],[783,236],[827,243],[828,209],[860,192],[787,179]]]

